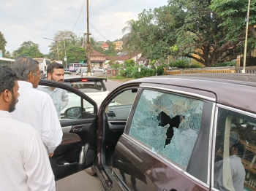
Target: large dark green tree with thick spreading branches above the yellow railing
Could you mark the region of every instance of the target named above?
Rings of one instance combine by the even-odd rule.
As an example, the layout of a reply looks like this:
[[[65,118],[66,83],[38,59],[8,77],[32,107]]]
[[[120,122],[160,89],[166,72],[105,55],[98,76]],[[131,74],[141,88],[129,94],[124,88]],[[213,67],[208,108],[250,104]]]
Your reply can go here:
[[[244,38],[225,38],[228,28],[210,6],[211,0],[169,0],[167,6],[144,10],[138,18],[139,49],[159,61],[169,55],[187,56],[205,66],[233,60],[241,54]]]

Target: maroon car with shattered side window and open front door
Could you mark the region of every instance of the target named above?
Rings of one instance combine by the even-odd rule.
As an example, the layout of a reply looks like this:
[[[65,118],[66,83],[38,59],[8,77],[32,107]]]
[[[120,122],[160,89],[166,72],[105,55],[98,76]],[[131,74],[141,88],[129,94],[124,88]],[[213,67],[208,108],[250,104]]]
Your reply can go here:
[[[255,74],[135,79],[99,111],[75,87],[39,85],[80,99],[60,120],[63,141],[50,157],[56,180],[93,165],[105,190],[255,190]]]

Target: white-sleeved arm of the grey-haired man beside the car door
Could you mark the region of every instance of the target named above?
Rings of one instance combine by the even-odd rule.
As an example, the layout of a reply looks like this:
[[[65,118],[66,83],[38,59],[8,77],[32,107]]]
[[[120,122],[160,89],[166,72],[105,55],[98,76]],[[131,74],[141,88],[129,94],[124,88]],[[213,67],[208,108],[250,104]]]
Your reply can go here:
[[[48,148],[48,153],[51,154],[61,144],[63,133],[50,95],[45,93],[42,99],[42,141]]]

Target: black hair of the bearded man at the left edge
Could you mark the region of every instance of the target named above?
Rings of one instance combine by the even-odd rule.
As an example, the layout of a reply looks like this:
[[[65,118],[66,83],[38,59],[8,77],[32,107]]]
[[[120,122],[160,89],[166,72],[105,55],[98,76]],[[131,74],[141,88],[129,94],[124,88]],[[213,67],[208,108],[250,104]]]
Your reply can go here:
[[[0,93],[4,90],[10,90],[13,93],[17,76],[8,66],[0,66]]]

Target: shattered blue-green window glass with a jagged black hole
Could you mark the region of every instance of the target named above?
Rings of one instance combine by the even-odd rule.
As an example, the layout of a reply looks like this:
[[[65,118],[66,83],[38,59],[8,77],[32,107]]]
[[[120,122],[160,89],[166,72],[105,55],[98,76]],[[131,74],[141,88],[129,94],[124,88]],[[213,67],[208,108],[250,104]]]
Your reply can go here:
[[[143,90],[129,135],[187,169],[195,145],[203,101],[181,95]]]

